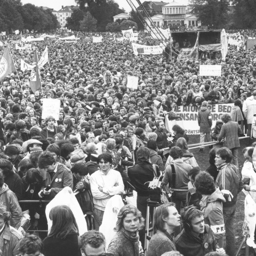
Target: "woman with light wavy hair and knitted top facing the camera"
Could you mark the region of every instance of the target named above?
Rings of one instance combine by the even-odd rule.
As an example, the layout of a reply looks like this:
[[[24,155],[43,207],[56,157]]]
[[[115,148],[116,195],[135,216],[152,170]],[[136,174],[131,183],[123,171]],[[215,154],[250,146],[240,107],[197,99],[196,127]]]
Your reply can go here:
[[[138,232],[143,226],[141,212],[133,205],[123,206],[114,229],[117,234],[110,242],[107,253],[112,256],[144,256]]]

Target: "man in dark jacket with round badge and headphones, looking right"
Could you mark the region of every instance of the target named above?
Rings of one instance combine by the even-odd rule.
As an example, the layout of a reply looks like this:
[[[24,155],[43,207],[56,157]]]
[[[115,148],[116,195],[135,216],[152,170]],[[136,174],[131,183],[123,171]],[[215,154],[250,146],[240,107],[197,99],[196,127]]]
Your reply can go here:
[[[187,207],[182,217],[184,229],[174,239],[177,251],[184,256],[204,256],[219,249],[210,226],[205,224],[202,211],[197,207]]]

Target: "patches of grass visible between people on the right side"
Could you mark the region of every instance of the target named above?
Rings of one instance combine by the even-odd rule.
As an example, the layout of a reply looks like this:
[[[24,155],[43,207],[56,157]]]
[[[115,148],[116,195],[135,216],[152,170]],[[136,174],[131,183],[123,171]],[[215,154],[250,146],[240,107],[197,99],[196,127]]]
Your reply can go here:
[[[199,135],[190,135],[189,136],[189,144],[199,143]],[[239,162],[239,171],[241,172],[243,163],[245,162],[245,159],[243,158],[242,150],[247,146],[247,139],[242,139],[240,141],[241,147],[238,150],[238,162]],[[197,159],[197,163],[201,170],[206,170],[206,168],[209,166],[209,147],[205,147],[203,153],[199,152],[199,149],[191,150],[191,153],[194,154],[195,159]],[[244,205],[245,195],[241,192],[238,195],[237,199],[237,212],[235,213],[235,246],[238,249],[240,243],[243,239],[243,232],[242,232],[242,226],[243,226],[243,219],[245,215],[245,205]],[[245,249],[241,250],[241,253],[239,255],[245,255]],[[249,251],[249,255],[253,256],[253,251]]]

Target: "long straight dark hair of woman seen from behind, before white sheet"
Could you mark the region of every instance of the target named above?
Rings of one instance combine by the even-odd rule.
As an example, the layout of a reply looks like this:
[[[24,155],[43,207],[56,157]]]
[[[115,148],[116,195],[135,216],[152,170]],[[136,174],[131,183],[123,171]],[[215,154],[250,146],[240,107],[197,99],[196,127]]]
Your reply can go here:
[[[78,234],[78,226],[74,214],[66,205],[58,205],[50,210],[49,215],[53,226],[48,237],[65,239],[71,232]]]

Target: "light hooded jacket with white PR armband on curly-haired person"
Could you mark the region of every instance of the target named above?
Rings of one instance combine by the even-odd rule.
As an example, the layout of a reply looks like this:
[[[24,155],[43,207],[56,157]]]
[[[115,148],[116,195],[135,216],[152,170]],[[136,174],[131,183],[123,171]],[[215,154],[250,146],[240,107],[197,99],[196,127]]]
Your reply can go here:
[[[200,202],[201,211],[205,217],[205,224],[211,227],[216,239],[222,238],[225,235],[223,202],[226,202],[226,199],[219,188],[213,194],[202,197]]]

